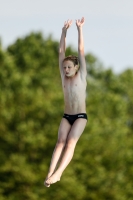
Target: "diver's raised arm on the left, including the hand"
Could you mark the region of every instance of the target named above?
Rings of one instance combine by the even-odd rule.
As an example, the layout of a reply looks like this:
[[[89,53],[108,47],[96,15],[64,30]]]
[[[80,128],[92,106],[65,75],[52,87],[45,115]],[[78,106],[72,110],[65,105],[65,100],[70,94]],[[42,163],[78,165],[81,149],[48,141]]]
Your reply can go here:
[[[62,62],[65,58],[65,51],[66,51],[66,34],[67,29],[71,26],[72,20],[67,20],[64,23],[64,26],[62,28],[61,38],[60,38],[60,44],[59,44],[59,66],[60,66],[60,72],[62,74]]]

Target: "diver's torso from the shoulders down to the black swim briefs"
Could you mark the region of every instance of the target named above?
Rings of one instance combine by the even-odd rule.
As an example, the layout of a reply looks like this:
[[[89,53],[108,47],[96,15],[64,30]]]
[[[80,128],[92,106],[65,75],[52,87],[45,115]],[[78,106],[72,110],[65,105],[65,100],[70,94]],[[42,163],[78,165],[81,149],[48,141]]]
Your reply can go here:
[[[80,72],[71,78],[62,77],[65,108],[64,113],[74,115],[86,113],[86,80],[82,79]]]

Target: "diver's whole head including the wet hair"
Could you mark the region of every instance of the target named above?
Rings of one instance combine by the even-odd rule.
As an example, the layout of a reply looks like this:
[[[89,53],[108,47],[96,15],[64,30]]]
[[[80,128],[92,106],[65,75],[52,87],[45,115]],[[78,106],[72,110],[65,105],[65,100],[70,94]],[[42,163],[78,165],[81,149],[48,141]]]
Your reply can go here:
[[[79,59],[77,56],[67,56],[63,60],[63,70],[67,77],[73,77],[79,70]]]

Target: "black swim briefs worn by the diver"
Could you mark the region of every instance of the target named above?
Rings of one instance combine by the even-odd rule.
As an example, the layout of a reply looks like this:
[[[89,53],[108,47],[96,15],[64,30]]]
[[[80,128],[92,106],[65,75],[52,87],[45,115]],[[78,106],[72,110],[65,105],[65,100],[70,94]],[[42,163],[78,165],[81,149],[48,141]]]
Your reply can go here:
[[[83,119],[87,120],[87,114],[86,113],[79,113],[79,114],[76,114],[76,115],[64,114],[63,118],[66,118],[69,121],[69,123],[71,125],[73,125],[73,123],[79,118],[83,118]]]

